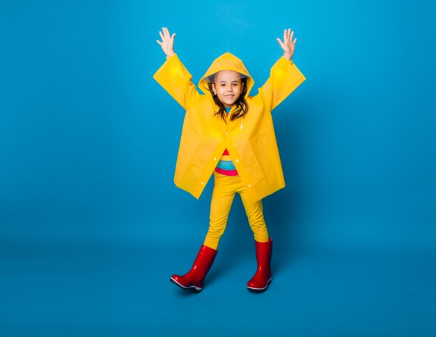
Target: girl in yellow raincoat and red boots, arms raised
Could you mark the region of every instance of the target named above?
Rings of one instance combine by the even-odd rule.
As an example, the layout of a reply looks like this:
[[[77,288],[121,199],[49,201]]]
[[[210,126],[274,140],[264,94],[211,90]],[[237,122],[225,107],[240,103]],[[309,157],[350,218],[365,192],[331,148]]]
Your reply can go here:
[[[285,186],[271,111],[306,77],[292,61],[297,39],[284,31],[283,57],[271,68],[270,78],[256,96],[249,96],[254,80],[240,59],[226,53],[215,59],[198,83],[175,54],[174,36],[167,28],[157,43],[166,54],[165,63],[153,76],[186,110],[174,182],[198,199],[212,173],[215,185],[210,203],[210,225],[205,241],[185,275],[171,282],[200,292],[212,266],[219,239],[226,228],[235,193],[244,204],[254,232],[258,268],[247,288],[261,292],[272,280],[272,239],[263,219],[262,199]]]

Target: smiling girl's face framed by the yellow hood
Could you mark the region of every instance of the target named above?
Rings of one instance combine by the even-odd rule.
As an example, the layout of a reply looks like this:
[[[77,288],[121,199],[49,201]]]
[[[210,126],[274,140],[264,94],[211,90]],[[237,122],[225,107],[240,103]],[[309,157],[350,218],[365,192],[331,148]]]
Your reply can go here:
[[[238,100],[244,87],[240,77],[240,74],[233,70],[221,70],[217,73],[215,83],[212,83],[212,90],[224,107],[232,107]]]

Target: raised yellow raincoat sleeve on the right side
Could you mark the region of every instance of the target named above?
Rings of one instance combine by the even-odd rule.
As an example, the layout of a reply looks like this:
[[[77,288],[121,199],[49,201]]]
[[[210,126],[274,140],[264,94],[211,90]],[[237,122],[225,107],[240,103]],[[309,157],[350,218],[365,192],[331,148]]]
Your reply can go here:
[[[271,68],[270,78],[259,88],[263,103],[273,110],[290,95],[306,77],[293,61],[281,57]]]

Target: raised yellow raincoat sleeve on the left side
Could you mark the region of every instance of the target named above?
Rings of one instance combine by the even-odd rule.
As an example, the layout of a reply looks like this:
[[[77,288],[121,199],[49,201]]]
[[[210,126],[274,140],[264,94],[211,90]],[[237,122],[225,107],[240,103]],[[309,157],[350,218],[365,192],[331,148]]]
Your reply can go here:
[[[185,108],[200,96],[196,86],[192,83],[192,75],[183,66],[177,54],[166,59],[165,63],[157,70],[153,78]]]

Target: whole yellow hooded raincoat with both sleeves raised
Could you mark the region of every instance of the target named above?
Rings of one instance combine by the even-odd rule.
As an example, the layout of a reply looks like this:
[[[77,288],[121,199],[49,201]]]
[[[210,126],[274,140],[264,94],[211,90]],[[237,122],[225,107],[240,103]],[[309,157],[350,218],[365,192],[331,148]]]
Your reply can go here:
[[[232,107],[227,123],[215,116],[219,107],[204,80],[219,70],[235,70],[248,77],[248,112],[230,121]],[[242,61],[230,53],[215,59],[198,83],[204,95],[197,91],[177,54],[168,57],[153,78],[186,110],[174,175],[178,188],[198,199],[226,148],[253,201],[285,187],[271,111],[306,80],[293,61],[281,57],[256,96],[249,96],[254,80]]]

